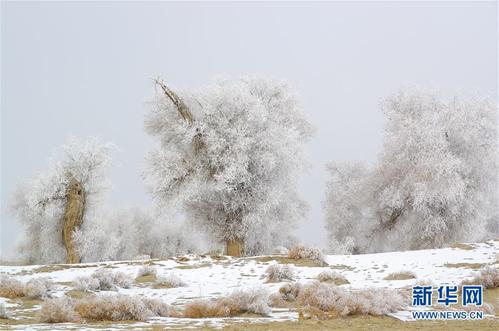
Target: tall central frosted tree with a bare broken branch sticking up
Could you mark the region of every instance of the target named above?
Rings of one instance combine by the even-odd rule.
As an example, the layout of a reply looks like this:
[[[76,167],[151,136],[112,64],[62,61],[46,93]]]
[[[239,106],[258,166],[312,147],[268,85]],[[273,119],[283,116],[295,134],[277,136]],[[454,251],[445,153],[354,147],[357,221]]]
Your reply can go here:
[[[147,171],[155,200],[179,203],[230,255],[287,236],[304,216],[296,183],[311,135],[289,85],[245,77],[173,92],[157,84],[146,118],[146,131],[160,143]],[[257,231],[264,235],[251,236]]]

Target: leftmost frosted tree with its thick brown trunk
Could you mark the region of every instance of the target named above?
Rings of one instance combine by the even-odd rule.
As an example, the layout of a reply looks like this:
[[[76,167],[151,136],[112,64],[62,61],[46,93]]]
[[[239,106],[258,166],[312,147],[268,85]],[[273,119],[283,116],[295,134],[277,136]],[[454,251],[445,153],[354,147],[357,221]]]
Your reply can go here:
[[[16,191],[13,210],[25,225],[20,251],[27,262],[80,262],[73,236],[99,205],[111,149],[96,138],[70,139],[45,173]]]

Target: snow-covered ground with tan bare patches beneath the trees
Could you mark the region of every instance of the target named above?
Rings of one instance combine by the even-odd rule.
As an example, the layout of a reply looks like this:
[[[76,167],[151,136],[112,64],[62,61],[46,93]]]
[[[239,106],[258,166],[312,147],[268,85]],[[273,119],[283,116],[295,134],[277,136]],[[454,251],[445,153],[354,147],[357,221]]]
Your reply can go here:
[[[419,251],[392,252],[366,255],[329,255],[328,266],[318,266],[313,261],[292,260],[286,256],[260,256],[248,258],[230,258],[225,256],[189,255],[163,260],[140,260],[88,263],[79,265],[33,265],[1,266],[0,273],[27,282],[39,277],[48,277],[56,286],[51,291],[52,297],[62,297],[69,293],[77,294],[74,285],[79,277],[90,276],[98,269],[120,271],[134,281],[129,288],[118,287],[113,292],[157,298],[176,307],[182,307],[196,299],[211,299],[229,295],[234,290],[245,288],[265,288],[269,293],[276,293],[285,282],[266,282],[265,271],[270,265],[294,264],[294,279],[306,284],[328,270],[340,273],[348,283],[338,285],[344,288],[400,288],[408,289],[421,282],[431,284],[459,285],[463,280],[473,277],[477,270],[498,265],[499,241],[479,244],[459,244],[452,248]],[[139,271],[153,266],[155,276],[143,275],[137,278]],[[411,275],[412,273],[412,275]],[[405,276],[404,276],[405,274]],[[157,286],[154,279],[170,277],[184,283],[181,287]],[[415,276],[415,278],[411,278]],[[156,285],[155,285],[156,284]],[[497,301],[497,300],[496,300]],[[40,300],[8,299],[0,297],[9,320],[0,319],[1,329],[81,329],[79,324],[43,324],[39,322]],[[491,302],[499,311],[497,302]],[[392,314],[401,320],[410,320],[411,302],[407,309]],[[143,328],[161,325],[171,328],[221,327],[228,323],[258,323],[273,321],[293,321],[298,319],[295,309],[273,308],[268,317],[241,316],[231,318],[171,318],[153,317],[146,322],[107,323],[108,328]],[[488,315],[488,318],[496,318]],[[3,324],[3,325],[2,325]],[[95,324],[85,325],[86,329],[102,328]]]

